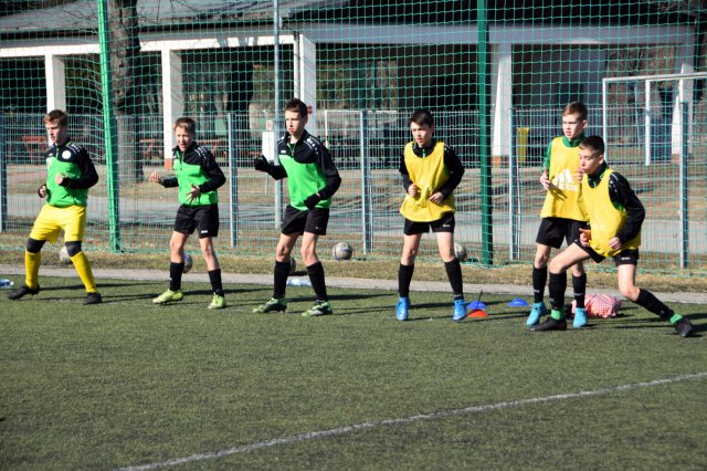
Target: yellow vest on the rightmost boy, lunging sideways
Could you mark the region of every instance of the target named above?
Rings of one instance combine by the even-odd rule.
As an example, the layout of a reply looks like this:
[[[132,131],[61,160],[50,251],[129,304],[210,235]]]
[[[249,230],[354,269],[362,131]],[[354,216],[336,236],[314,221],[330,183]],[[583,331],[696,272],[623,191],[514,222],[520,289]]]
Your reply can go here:
[[[587,175],[582,177],[582,202],[589,214],[589,224],[592,228],[592,238],[589,245],[597,253],[604,257],[614,257],[622,250],[637,249],[641,245],[641,232],[623,244],[621,250],[609,247],[609,240],[616,236],[619,229],[626,222],[626,210],[616,209],[609,196],[609,176],[612,169],[606,169],[597,187],[591,188],[587,181]]]

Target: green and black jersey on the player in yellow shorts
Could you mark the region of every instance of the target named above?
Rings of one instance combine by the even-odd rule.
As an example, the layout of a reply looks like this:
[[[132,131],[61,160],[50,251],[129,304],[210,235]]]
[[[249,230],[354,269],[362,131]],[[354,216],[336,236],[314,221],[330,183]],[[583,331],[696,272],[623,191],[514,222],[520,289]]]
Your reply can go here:
[[[98,182],[98,172],[88,153],[68,139],[60,146],[52,145],[46,153],[46,203],[57,208],[86,206],[88,188]],[[56,184],[56,175],[64,177]]]

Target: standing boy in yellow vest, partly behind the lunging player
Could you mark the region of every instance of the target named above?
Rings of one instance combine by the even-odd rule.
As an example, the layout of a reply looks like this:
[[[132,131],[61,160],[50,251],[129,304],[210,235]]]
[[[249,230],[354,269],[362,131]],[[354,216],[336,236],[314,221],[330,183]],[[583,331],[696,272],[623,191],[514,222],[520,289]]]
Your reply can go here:
[[[579,237],[579,228],[587,222],[579,201],[581,189],[577,172],[579,170],[579,144],[584,138],[587,127],[587,107],[580,102],[568,104],[562,111],[562,136],[552,139],[545,153],[540,185],[547,190],[540,211],[540,228],[536,237],[536,252],[532,264],[532,308],[526,320],[528,327],[537,325],[547,314],[542,301],[548,279],[548,260],[552,248],[559,249],[562,240],[570,245]],[[580,262],[572,266],[572,287],[574,290],[574,320],[572,327],[587,325],[584,295],[587,273]]]

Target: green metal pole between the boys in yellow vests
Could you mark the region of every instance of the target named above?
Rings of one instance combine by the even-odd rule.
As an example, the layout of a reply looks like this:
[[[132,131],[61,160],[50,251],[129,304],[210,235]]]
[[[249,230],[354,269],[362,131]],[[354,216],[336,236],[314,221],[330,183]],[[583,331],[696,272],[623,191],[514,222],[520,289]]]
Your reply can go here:
[[[494,208],[490,200],[490,77],[488,51],[488,7],[486,0],[476,4],[476,34],[477,34],[477,69],[476,84],[478,97],[478,148],[481,159],[481,187],[482,187],[482,262],[485,265],[494,264]],[[497,113],[500,109],[496,111]]]

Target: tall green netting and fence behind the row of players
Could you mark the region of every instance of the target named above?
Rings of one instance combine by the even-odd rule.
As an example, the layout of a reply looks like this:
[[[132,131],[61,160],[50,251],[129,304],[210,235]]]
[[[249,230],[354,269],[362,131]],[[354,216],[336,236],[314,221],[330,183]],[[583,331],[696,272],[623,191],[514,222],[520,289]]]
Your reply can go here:
[[[398,163],[411,112],[429,107],[467,168],[457,241],[484,263],[527,263],[542,155],[562,107],[580,100],[589,134],[603,135],[646,207],[642,265],[704,270],[707,97],[694,73],[705,71],[706,11],[620,0],[3,2],[0,249],[22,247],[41,207],[42,118],[63,108],[101,175],[91,250],[167,247],[177,197],[146,176],[169,172],[171,124],[190,116],[228,176],[220,251],[271,254],[286,187],[252,161],[272,153],[283,104],[297,96],[344,179],[323,250],[346,240],[357,255],[399,257]]]

